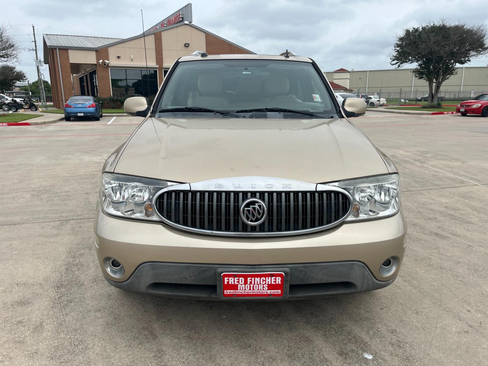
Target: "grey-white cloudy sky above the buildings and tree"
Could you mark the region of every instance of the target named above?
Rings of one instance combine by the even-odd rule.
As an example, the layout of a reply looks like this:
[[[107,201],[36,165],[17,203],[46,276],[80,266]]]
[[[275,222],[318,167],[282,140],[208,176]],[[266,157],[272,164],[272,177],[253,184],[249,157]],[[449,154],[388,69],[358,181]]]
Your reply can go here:
[[[43,33],[127,38],[142,32],[141,9],[147,29],[187,2],[43,0],[32,7],[24,2],[24,11],[2,7],[0,22],[11,24],[12,34],[25,49],[19,67],[34,81],[34,52],[28,50],[33,47],[32,23],[42,55]],[[193,0],[192,4],[193,23],[203,29],[256,53],[291,50],[313,58],[324,71],[391,68],[388,54],[395,36],[429,20],[488,24],[486,0]],[[488,58],[481,58],[469,65],[487,64]],[[42,73],[49,80],[47,65]]]

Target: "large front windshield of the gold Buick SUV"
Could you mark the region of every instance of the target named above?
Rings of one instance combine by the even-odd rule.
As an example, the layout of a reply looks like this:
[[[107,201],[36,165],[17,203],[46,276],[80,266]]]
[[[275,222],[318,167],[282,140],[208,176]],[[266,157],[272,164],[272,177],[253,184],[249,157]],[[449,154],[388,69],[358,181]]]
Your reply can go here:
[[[198,108],[228,112],[284,108],[336,113],[311,63],[274,60],[181,62],[171,75],[157,110],[173,108],[187,108],[186,113],[193,114],[202,113]]]

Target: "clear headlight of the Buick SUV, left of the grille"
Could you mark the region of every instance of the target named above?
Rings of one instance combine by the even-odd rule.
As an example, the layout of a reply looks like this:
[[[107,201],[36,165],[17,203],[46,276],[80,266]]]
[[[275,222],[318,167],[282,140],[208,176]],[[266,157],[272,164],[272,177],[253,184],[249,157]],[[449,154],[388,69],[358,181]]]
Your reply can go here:
[[[103,173],[100,186],[102,210],[107,214],[139,220],[159,221],[154,215],[154,194],[178,184],[151,178]]]

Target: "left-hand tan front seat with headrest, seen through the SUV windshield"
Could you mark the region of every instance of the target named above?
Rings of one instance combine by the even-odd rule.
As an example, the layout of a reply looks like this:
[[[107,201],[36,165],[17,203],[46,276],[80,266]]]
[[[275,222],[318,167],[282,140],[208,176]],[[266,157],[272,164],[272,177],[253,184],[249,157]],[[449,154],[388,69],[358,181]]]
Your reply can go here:
[[[228,105],[229,101],[221,97],[222,79],[216,75],[201,75],[198,77],[198,92],[190,92],[188,106],[190,107],[219,107]]]

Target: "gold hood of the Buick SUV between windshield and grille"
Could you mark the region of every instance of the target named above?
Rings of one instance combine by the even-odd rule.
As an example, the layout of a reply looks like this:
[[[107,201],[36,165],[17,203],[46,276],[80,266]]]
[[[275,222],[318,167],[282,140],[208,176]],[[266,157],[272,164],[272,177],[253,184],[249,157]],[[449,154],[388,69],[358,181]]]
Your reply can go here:
[[[184,183],[243,176],[321,183],[388,173],[345,119],[244,118],[148,118],[114,171]]]

